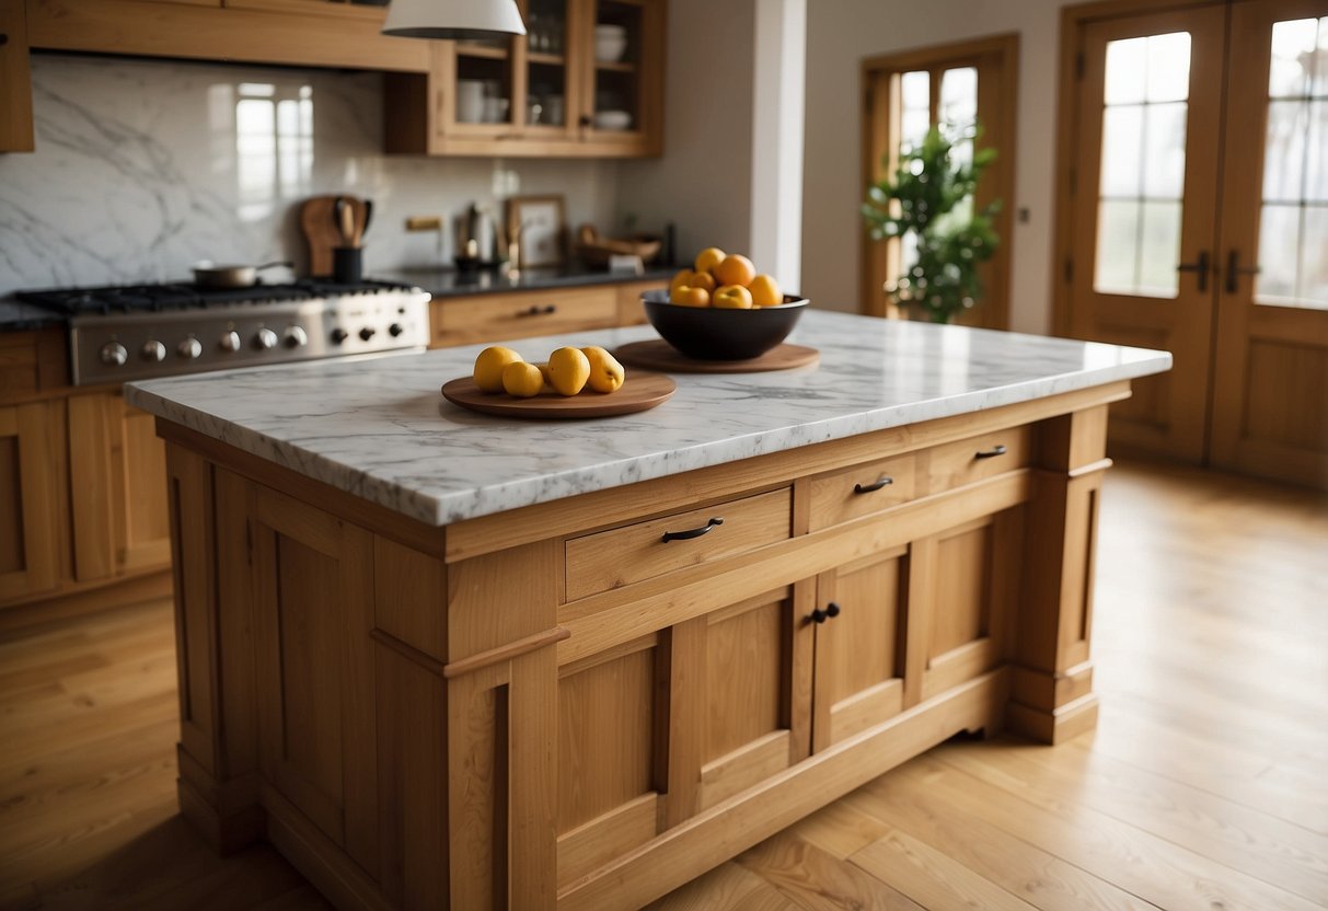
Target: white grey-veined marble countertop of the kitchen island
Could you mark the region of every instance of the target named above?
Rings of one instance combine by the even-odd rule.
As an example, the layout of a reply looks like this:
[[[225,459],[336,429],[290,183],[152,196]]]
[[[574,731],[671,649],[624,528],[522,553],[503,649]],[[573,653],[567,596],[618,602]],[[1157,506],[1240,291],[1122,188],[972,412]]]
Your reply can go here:
[[[649,327],[510,343],[614,348]],[[648,412],[522,421],[457,408],[483,345],[129,384],[126,400],[430,525],[1170,369],[1166,352],[807,311],[817,367],[679,374]],[[628,371],[628,374],[631,371]]]

